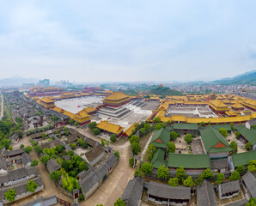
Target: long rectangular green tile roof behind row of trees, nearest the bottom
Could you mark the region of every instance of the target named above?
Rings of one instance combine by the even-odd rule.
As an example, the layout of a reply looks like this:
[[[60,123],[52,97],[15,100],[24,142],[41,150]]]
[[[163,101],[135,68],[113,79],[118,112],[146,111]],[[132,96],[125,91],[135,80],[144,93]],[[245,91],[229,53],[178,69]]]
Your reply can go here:
[[[208,154],[168,154],[168,167],[187,169],[210,168],[210,158]]]

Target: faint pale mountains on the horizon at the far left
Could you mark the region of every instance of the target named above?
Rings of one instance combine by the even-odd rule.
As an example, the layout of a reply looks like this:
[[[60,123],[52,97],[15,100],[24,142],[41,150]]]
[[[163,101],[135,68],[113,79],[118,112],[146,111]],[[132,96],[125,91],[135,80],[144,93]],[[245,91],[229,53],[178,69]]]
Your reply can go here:
[[[23,83],[36,83],[37,79],[23,78],[21,76],[13,76],[9,78],[0,79],[0,86],[21,86]]]

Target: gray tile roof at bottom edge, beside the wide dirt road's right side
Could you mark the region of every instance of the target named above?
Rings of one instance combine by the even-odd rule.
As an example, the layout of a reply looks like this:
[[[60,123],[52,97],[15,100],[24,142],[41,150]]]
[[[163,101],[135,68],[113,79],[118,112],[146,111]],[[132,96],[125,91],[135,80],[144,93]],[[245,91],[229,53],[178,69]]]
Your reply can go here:
[[[126,206],[138,205],[143,195],[143,183],[144,179],[141,177],[136,177],[128,182],[121,197]]]

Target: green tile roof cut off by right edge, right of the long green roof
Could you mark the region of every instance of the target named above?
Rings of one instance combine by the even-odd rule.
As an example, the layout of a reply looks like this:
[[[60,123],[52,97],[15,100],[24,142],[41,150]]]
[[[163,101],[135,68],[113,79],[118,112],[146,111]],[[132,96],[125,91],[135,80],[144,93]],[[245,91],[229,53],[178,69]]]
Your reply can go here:
[[[232,154],[232,160],[234,167],[247,165],[249,161],[256,160],[256,150],[245,153]]]

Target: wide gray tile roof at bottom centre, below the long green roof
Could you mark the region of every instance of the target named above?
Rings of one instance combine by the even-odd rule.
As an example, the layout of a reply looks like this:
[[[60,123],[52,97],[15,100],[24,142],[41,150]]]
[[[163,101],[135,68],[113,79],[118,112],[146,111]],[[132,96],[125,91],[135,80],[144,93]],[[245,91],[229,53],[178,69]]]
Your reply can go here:
[[[167,184],[149,181],[148,194],[175,200],[190,200],[191,188],[185,186],[171,187]]]

